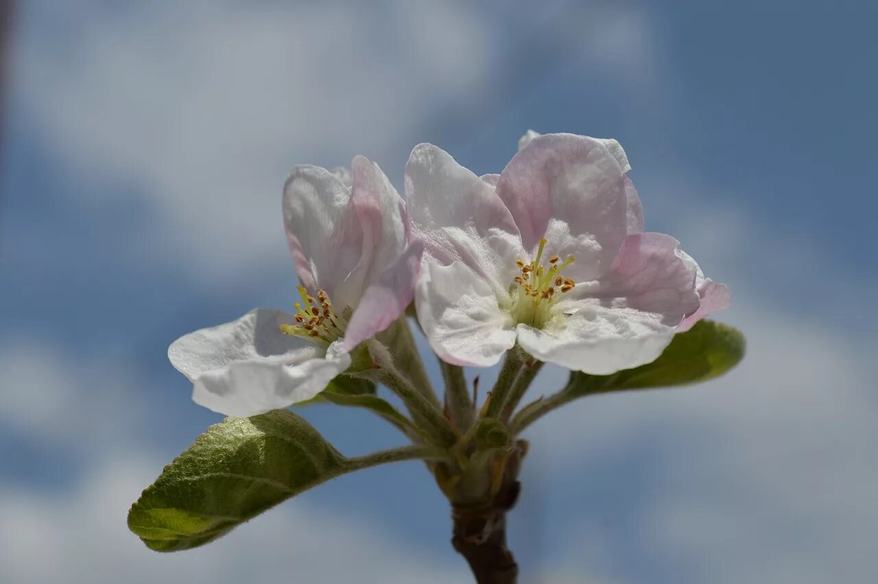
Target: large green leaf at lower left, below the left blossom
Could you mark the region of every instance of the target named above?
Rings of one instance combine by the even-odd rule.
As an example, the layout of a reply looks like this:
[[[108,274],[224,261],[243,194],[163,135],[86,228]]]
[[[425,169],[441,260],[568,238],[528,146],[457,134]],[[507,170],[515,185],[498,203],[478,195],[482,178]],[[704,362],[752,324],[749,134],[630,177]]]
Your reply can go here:
[[[165,466],[128,512],[128,528],[159,552],[196,547],[354,470],[350,462],[287,410],[227,418]]]

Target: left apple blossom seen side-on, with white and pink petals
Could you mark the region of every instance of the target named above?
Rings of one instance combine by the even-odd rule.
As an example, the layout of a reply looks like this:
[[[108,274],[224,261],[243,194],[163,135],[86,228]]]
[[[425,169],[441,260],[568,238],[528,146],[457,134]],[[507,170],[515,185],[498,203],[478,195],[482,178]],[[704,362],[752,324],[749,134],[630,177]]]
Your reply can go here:
[[[301,165],[284,185],[284,226],[299,274],[296,312],[256,309],[177,339],[170,361],[192,399],[225,415],[310,400],[350,365],[349,351],[389,327],[414,294],[423,246],[374,162],[352,171]]]

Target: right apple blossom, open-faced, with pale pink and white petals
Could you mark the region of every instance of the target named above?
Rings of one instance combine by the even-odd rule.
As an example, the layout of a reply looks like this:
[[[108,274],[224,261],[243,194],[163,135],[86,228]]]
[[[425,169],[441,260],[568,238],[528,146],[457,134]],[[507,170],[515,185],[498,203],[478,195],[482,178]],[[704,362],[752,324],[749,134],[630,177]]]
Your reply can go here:
[[[484,177],[432,144],[409,158],[409,215],[425,245],[415,306],[440,357],[488,366],[518,342],[605,375],[651,362],[681,327],[728,304],[707,280],[699,298],[700,270],[680,242],[644,233],[617,141],[528,133],[520,145]]]

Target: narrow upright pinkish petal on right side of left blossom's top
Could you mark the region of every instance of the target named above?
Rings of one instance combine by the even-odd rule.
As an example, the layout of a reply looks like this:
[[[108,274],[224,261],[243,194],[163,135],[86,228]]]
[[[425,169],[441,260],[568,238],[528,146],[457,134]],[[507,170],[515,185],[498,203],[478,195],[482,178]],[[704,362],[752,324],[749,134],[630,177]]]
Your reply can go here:
[[[381,277],[406,248],[405,204],[378,164],[364,156],[351,163],[351,199],[363,227],[363,288]],[[414,285],[414,283],[413,283]]]

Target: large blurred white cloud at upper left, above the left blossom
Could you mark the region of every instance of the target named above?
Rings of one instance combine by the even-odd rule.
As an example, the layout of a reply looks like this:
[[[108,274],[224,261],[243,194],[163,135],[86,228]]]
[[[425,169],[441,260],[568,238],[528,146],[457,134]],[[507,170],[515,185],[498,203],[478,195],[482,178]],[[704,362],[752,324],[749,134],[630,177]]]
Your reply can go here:
[[[486,35],[461,6],[102,6],[24,7],[14,102],[94,195],[85,212],[137,192],[141,260],[182,256],[193,278],[288,265],[293,164],[363,153],[401,169],[414,130],[486,83]]]

